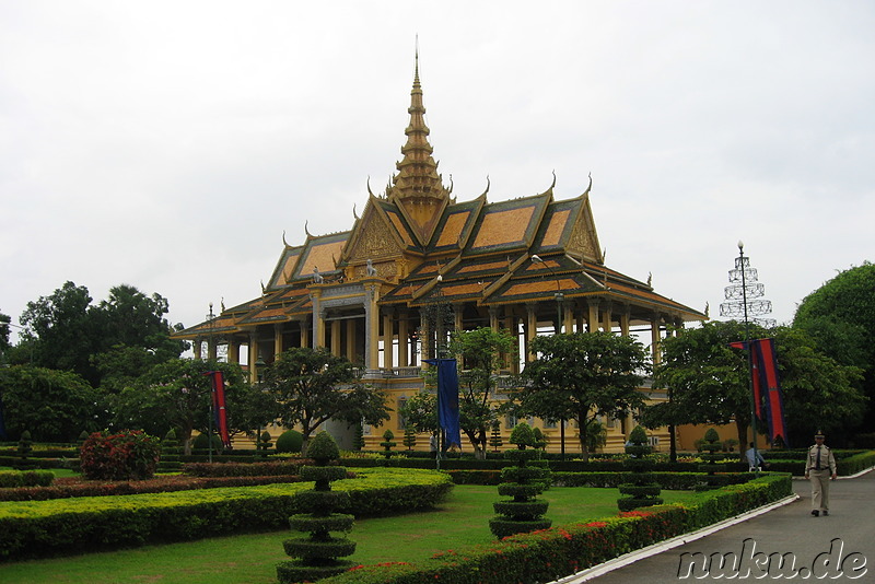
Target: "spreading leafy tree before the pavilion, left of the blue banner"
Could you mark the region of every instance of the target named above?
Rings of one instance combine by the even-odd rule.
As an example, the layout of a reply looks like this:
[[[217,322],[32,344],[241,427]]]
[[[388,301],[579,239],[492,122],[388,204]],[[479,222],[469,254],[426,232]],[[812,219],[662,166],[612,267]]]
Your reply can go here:
[[[313,432],[330,419],[350,425],[388,420],[386,395],[362,384],[352,363],[325,349],[284,351],[267,370],[264,388],[280,404],[282,423],[301,425],[304,452]]]

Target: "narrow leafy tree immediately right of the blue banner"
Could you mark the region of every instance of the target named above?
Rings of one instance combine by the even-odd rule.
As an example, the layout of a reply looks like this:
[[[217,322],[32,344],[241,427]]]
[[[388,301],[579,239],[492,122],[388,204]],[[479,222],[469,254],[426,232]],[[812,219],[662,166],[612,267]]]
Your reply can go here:
[[[450,339],[450,353],[458,355],[459,428],[468,436],[477,458],[486,457],[487,441],[498,409],[491,405],[495,387],[494,372],[503,362],[502,354],[513,353],[516,339],[508,330],[489,327],[457,330]]]

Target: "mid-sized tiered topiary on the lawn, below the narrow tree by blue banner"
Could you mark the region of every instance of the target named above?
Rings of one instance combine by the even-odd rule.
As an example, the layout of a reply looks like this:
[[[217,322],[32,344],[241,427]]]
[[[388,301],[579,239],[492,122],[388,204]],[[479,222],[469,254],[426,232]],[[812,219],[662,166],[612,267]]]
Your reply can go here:
[[[504,468],[501,471],[502,483],[499,484],[499,494],[511,497],[510,500],[492,504],[497,516],[489,521],[489,529],[501,539],[514,534],[547,529],[552,525],[551,519],[544,518],[549,503],[537,499],[545,484],[549,483],[550,471],[542,462],[533,460],[540,454],[536,449],[526,449],[535,446],[535,435],[532,428],[525,422],[513,429],[511,444],[516,444],[515,449],[505,451],[504,456],[516,463],[516,466]],[[529,466],[529,463],[533,463]]]

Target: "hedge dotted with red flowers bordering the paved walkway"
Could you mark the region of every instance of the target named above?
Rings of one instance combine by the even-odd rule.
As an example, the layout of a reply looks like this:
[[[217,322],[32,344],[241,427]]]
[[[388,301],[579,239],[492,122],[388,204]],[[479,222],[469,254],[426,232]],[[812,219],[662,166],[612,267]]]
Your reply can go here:
[[[792,493],[788,475],[710,491],[691,506],[660,505],[619,517],[564,525],[436,554],[420,564],[394,562],[352,570],[320,584],[535,584],[573,574]]]

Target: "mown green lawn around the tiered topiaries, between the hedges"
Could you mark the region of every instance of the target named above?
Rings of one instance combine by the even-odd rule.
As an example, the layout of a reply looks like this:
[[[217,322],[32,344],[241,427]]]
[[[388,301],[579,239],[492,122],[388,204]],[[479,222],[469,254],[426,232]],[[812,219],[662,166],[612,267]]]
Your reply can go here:
[[[617,514],[616,489],[553,488],[542,495],[553,525]],[[692,501],[699,493],[666,491],[667,503]],[[487,524],[498,501],[495,487],[456,486],[439,511],[355,522],[359,563],[417,561],[435,552],[492,539]],[[147,546],[27,562],[0,563],[0,582],[15,583],[180,583],[269,584],[275,565],[287,560],[282,540],[291,532],[271,532],[199,541]]]

